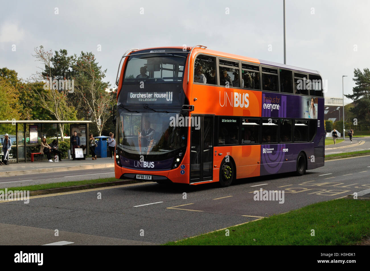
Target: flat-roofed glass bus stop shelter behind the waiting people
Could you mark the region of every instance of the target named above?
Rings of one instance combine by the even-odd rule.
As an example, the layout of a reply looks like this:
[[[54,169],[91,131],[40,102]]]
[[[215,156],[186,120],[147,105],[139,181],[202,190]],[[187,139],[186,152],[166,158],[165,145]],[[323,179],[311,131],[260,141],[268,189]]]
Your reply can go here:
[[[48,138],[54,138],[50,135],[56,135],[55,139],[59,142],[60,130],[58,124],[69,124],[70,133],[73,134],[73,131],[77,131],[77,134],[80,136],[81,145],[85,145],[84,154],[88,155],[88,133],[89,133],[89,124],[92,121],[39,121],[39,120],[30,120],[30,121],[0,121],[0,125],[9,125],[10,130],[14,130],[15,126],[15,140],[14,135],[10,137],[11,139],[11,151],[9,160],[10,162],[27,162],[30,160],[30,154],[32,152],[39,152],[40,143],[44,136]],[[56,129],[56,131],[55,131]],[[13,132],[4,132],[9,135],[14,134]],[[15,141],[15,142],[14,142]],[[1,144],[2,145],[2,144]]]

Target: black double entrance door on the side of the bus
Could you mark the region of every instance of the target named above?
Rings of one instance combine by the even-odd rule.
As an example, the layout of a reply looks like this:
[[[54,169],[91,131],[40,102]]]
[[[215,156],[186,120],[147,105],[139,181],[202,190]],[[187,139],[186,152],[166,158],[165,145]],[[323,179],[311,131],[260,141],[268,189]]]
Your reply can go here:
[[[190,183],[212,180],[213,115],[192,115]]]

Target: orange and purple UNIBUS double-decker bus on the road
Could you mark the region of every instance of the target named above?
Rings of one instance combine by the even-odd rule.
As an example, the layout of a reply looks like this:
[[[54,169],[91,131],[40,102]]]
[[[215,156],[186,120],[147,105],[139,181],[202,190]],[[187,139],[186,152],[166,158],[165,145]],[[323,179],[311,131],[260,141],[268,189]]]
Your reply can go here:
[[[131,49],[121,62],[117,179],[226,187],[324,166],[319,72],[203,45]]]

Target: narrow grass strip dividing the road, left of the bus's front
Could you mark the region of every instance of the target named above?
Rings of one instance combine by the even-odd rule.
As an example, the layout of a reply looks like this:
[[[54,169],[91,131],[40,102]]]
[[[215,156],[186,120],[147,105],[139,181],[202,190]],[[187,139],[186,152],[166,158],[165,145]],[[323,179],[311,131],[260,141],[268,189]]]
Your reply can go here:
[[[102,179],[95,179],[95,180],[83,180],[83,181],[73,181],[73,182],[60,182],[60,183],[46,183],[46,184],[34,184],[29,186],[17,186],[17,187],[8,187],[8,190],[28,190],[28,191],[37,191],[37,190],[45,190],[45,189],[53,189],[53,188],[61,188],[61,187],[72,187],[72,186],[81,186],[86,184],[96,184],[96,183],[110,183],[110,182],[117,182],[118,179],[115,178],[102,178]],[[137,182],[132,180],[132,182]],[[139,181],[140,182],[140,181]],[[127,182],[130,183],[130,182]],[[86,189],[89,187],[86,187]],[[4,191],[5,188],[1,188],[0,191]]]

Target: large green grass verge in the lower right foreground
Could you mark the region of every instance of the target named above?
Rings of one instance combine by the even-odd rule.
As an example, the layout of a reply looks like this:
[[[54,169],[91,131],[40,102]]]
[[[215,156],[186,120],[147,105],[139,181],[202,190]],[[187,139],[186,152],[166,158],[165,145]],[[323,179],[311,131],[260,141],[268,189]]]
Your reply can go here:
[[[165,245],[353,245],[369,236],[370,201],[324,201],[228,230]]]

